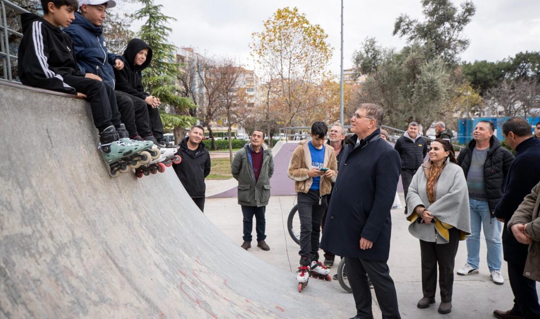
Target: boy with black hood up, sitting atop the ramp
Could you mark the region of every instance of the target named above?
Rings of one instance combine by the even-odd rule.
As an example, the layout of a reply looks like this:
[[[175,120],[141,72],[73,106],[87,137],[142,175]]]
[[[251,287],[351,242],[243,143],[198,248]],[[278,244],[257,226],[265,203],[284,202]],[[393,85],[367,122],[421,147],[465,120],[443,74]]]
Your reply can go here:
[[[114,69],[116,78],[116,90],[129,94],[134,104],[144,103],[147,105],[150,117],[150,127],[153,136],[157,139],[160,147],[175,147],[163,137],[163,123],[159,116],[158,106],[161,104],[157,97],[151,96],[144,91],[142,73],[152,62],[152,49],[141,39],[131,39],[122,55],[124,68]]]

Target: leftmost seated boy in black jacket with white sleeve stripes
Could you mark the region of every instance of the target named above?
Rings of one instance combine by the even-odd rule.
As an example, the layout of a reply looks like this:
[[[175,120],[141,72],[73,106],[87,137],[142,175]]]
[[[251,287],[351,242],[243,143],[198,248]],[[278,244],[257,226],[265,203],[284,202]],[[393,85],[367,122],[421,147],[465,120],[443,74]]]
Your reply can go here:
[[[120,121],[114,91],[103,82],[85,78],[79,70],[73,43],[60,26],[75,19],[76,0],[42,0],[43,17],[23,13],[23,39],[18,50],[18,76],[24,85],[86,97],[94,125],[99,131],[100,150],[108,164],[141,150],[145,144],[120,141],[127,131]],[[115,166],[116,167],[116,166]],[[111,175],[118,169],[111,165]]]

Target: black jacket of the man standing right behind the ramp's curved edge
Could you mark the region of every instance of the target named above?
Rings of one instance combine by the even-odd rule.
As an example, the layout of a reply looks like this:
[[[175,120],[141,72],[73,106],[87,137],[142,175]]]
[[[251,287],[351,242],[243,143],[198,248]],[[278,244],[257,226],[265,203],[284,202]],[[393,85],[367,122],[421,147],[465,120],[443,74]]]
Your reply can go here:
[[[190,150],[187,147],[188,139],[186,137],[180,143],[178,155],[182,161],[180,164],[173,164],[173,168],[190,197],[201,198],[206,192],[204,179],[210,174],[210,153],[203,142],[197,150]]]

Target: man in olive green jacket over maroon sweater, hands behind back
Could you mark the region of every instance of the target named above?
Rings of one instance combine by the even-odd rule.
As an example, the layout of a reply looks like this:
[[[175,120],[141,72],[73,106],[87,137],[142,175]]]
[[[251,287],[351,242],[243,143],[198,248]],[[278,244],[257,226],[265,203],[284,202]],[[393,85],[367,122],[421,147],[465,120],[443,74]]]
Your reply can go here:
[[[231,173],[238,180],[238,204],[244,215],[244,243],[240,247],[251,248],[253,215],[257,219],[257,247],[270,250],[265,242],[265,212],[270,199],[270,178],[274,173],[272,150],[264,143],[265,133],[253,131],[251,141],[234,155]]]

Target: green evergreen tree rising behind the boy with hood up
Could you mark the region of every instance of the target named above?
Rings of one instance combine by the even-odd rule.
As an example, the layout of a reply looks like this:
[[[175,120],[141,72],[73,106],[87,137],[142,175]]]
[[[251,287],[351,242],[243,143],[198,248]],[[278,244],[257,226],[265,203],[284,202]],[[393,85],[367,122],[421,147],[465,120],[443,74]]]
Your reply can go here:
[[[172,29],[167,26],[173,17],[161,12],[163,5],[154,4],[153,0],[140,0],[143,8],[134,13],[135,19],[146,19],[141,26],[139,37],[152,48],[152,63],[143,71],[145,89],[161,100],[161,106],[171,106],[175,114],[161,113],[165,130],[181,130],[194,123],[194,118],[188,116],[188,110],[196,107],[190,98],[181,96],[178,86],[180,64],[176,62],[177,47],[168,43]],[[175,134],[176,135],[176,134]]]

